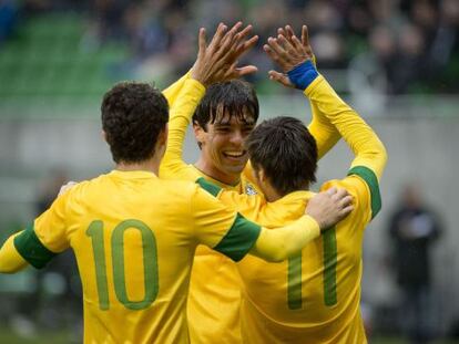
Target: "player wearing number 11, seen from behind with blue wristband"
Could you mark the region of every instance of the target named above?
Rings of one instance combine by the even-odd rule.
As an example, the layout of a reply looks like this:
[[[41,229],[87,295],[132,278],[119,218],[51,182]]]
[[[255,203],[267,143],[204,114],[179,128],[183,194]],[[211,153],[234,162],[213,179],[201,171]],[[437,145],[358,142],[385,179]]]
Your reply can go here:
[[[304,90],[310,100],[318,124],[312,132],[322,127],[328,137],[318,136],[319,153],[332,147],[339,133],[356,154],[348,177],[323,186],[324,189],[346,187],[355,198],[355,210],[288,262],[268,264],[256,258],[243,259],[239,263],[244,281],[243,342],[366,343],[359,312],[361,243],[366,225],[380,209],[378,183],[386,150],[371,128],[315,70],[305,27],[302,41],[289,27],[279,29],[278,39],[269,39],[265,50],[288,72],[287,75],[273,71],[271,77]],[[196,88],[190,85],[186,96],[198,100]],[[172,114],[172,131],[186,125],[188,119],[183,108]],[[176,134],[183,135],[178,129]],[[181,139],[170,143],[171,157],[181,154],[180,144]],[[307,189],[315,180],[315,140],[300,122],[280,117],[255,128],[248,135],[247,148],[255,167],[255,183],[271,204],[263,197],[244,197],[203,181],[202,185],[262,223],[279,226],[293,221],[304,211],[305,200],[313,196]],[[176,159],[169,163],[170,170],[193,178],[194,168]]]

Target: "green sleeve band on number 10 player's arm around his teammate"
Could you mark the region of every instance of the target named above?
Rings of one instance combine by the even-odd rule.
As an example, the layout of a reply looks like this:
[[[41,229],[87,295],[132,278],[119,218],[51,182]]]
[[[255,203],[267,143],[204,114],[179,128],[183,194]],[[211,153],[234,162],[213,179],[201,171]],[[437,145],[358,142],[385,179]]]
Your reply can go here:
[[[239,261],[252,249],[261,231],[262,227],[237,213],[233,226],[218,244],[214,247],[214,250],[234,261]]]

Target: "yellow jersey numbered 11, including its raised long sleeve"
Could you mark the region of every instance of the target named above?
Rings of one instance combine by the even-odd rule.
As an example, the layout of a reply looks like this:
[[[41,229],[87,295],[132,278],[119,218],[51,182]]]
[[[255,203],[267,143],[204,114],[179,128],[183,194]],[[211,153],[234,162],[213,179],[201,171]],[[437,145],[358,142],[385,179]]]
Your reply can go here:
[[[320,121],[334,125],[356,155],[348,177],[322,188],[346,188],[354,197],[355,210],[286,262],[273,264],[247,257],[238,263],[244,284],[243,343],[367,342],[359,310],[363,238],[365,227],[381,207],[378,180],[387,156],[373,129],[322,75],[305,93],[318,116],[324,116]],[[262,226],[296,220],[313,195],[296,191],[266,204],[226,190],[213,192]]]

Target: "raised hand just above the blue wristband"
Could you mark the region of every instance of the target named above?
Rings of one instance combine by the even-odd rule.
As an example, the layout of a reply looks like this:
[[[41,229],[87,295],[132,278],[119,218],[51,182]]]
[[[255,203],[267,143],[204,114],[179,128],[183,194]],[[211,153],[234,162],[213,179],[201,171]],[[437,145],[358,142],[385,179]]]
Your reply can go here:
[[[277,38],[268,38],[267,44],[263,45],[263,49],[283,71],[283,73],[269,71],[269,79],[287,87],[295,87],[295,85],[286,73],[308,60],[314,63],[306,25],[302,28],[300,40],[295,35],[290,25],[277,29]]]

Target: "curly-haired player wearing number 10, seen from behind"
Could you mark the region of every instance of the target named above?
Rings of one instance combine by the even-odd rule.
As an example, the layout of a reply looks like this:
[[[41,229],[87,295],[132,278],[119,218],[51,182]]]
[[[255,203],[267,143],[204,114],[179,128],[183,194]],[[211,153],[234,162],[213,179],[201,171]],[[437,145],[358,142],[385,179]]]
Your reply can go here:
[[[218,58],[234,37],[220,30],[208,49],[200,49],[195,77],[205,80],[215,65],[202,64]],[[234,66],[227,72],[237,74]],[[101,111],[115,168],[60,195],[0,249],[3,273],[28,264],[42,268],[55,254],[74,250],[83,285],[84,343],[188,343],[186,298],[197,244],[234,260],[251,252],[279,261],[317,236],[310,216],[271,231],[195,184],[157,178],[169,105],[149,84],[115,85]],[[327,197],[323,205],[333,206]]]

